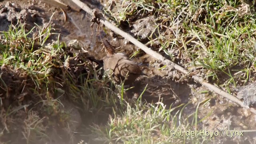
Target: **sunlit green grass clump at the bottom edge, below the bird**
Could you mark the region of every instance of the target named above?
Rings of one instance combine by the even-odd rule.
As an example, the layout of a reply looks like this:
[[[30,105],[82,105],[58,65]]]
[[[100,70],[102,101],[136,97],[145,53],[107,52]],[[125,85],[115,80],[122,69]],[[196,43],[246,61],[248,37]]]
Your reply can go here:
[[[137,102],[134,106],[127,103],[126,110],[110,116],[106,126],[95,125],[95,141],[104,143],[200,143],[212,138],[186,136],[188,130],[199,130],[201,121],[197,114],[184,114],[187,105],[166,108],[162,102],[148,104]],[[198,129],[197,129],[198,128]]]

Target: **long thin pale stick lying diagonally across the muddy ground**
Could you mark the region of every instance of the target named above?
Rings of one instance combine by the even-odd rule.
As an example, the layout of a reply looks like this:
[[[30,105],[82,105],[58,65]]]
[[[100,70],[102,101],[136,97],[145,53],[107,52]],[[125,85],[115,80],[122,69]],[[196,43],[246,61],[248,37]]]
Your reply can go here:
[[[134,37],[132,37],[130,34],[120,30],[119,28],[117,28],[116,26],[114,26],[113,24],[111,24],[110,22],[108,22],[103,16],[101,15],[97,15],[95,16],[95,13],[93,12],[93,10],[91,10],[86,4],[84,4],[83,2],[80,2],[79,0],[72,0],[75,4],[77,4],[78,6],[80,6],[84,11],[86,11],[88,14],[90,14],[91,16],[94,16],[96,18],[99,19],[99,21],[104,24],[106,27],[108,27],[110,30],[116,32],[117,34],[119,34],[120,36],[126,38],[127,40],[129,40],[130,42],[132,42],[134,45],[138,46],[140,49],[142,49],[144,52],[146,52],[147,54],[149,54],[150,56],[154,57],[156,60],[160,60],[162,61],[166,66],[168,66],[168,68],[172,69],[176,69],[179,72],[182,72],[183,74],[189,74],[189,72],[187,70],[185,70],[184,68],[182,68],[181,66],[179,66],[178,64],[175,64],[174,62],[164,58],[162,55],[158,54],[157,52],[151,50],[150,48],[148,48],[147,46],[145,46],[144,44],[142,44],[141,42],[139,42],[138,40],[136,40]],[[205,82],[202,78],[198,77],[198,76],[192,76],[192,78],[202,84],[203,86],[209,88],[211,91],[216,92],[217,94],[219,94],[220,96],[223,96],[225,98],[228,98],[229,100],[231,100],[232,102],[235,102],[237,104],[239,104],[240,106],[242,106],[243,108],[249,108],[249,106],[244,105],[240,100],[238,100],[238,98],[236,98],[235,96],[232,96],[231,94],[228,94],[227,92],[225,92],[224,90],[221,90],[220,88]],[[254,114],[256,114],[256,110],[250,108],[250,111],[253,112]]]

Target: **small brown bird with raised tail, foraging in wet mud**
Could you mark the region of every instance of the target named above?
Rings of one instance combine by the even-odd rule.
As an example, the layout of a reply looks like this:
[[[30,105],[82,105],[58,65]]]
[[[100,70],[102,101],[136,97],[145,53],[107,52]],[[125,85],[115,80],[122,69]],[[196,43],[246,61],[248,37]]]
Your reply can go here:
[[[113,73],[114,81],[124,85],[132,84],[142,73],[140,66],[129,60],[125,54],[115,53],[114,48],[107,40],[102,40],[107,56],[103,59],[104,70]],[[144,74],[145,75],[145,74]],[[125,81],[124,81],[125,80]]]

